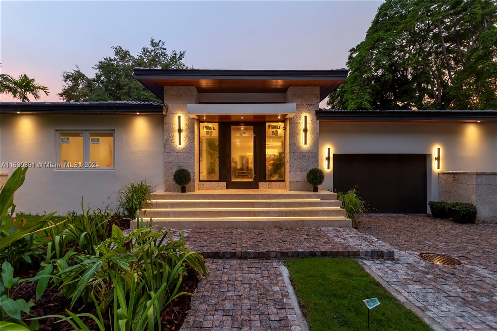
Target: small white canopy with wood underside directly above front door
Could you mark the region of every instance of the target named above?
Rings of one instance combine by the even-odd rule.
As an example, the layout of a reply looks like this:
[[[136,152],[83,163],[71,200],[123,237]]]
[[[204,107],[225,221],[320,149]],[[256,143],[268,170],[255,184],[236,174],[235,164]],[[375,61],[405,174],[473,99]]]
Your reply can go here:
[[[187,103],[186,113],[200,121],[281,121],[293,117],[295,103]]]

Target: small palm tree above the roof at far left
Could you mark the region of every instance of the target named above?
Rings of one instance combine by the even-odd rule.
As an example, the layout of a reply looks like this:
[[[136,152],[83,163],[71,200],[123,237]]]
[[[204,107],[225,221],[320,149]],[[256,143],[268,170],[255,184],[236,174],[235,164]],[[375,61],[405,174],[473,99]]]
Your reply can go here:
[[[22,102],[29,102],[29,95],[32,95],[35,100],[39,100],[40,92],[46,95],[50,93],[47,86],[36,84],[34,79],[29,78],[26,74],[20,75],[18,79],[6,74],[0,75],[0,93],[11,94]]]

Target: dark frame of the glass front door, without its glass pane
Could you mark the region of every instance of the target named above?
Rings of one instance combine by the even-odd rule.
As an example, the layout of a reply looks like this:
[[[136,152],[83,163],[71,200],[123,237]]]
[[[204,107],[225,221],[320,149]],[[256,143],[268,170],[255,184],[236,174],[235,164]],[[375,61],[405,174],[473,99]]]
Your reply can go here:
[[[253,126],[254,134],[254,162],[253,171],[254,177],[253,181],[232,181],[232,169],[231,169],[231,127],[233,125],[244,125]],[[265,122],[225,122],[224,130],[226,134],[226,188],[227,189],[250,189],[259,188],[259,181],[264,180],[265,171],[265,135],[264,128]]]

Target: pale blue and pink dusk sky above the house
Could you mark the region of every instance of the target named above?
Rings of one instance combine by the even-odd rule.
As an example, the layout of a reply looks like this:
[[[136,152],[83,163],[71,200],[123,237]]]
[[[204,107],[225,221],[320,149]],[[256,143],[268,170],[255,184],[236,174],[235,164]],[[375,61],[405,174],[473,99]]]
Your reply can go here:
[[[1,73],[25,73],[57,101],[63,71],[92,76],[111,46],[137,54],[151,37],[195,69],[343,68],[381,2],[1,1]]]

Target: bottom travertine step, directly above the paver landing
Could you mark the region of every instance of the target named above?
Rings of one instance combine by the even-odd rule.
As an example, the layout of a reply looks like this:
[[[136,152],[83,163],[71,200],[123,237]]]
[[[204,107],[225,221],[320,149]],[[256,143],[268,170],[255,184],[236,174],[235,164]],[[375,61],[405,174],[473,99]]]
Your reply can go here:
[[[147,223],[147,220],[144,220]],[[156,227],[172,229],[198,228],[298,228],[298,227],[347,227],[352,221],[346,217],[231,217],[231,218],[154,218]],[[131,222],[132,228],[136,227]]]

